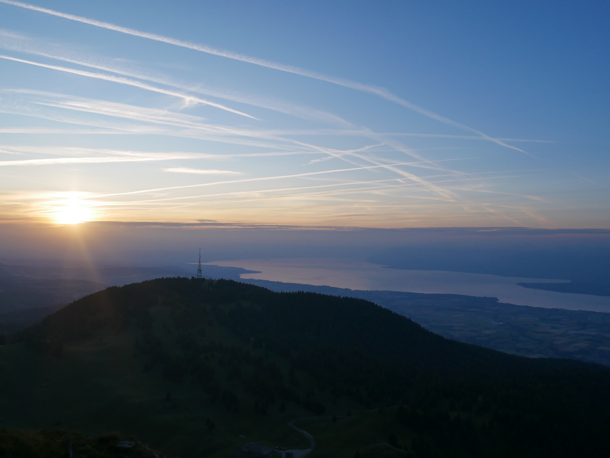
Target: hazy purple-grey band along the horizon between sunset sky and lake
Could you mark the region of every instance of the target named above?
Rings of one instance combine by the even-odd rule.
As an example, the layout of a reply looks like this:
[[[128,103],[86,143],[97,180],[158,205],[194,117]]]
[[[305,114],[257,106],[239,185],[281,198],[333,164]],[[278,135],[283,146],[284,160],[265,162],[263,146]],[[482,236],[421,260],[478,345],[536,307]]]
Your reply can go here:
[[[610,229],[526,227],[320,227],[235,223],[92,221],[65,226],[0,224],[0,258],[81,259],[168,265],[213,259],[345,257],[366,259],[400,246],[471,249],[610,247]]]

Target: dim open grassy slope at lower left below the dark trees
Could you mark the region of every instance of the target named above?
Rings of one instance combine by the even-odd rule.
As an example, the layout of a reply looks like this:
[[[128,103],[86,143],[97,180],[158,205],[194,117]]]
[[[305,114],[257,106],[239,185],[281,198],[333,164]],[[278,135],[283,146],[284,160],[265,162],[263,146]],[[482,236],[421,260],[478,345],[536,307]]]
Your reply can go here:
[[[153,332],[163,336],[165,345],[171,348],[178,331],[168,326],[167,332],[162,326],[168,323],[169,312],[170,307],[156,306],[151,315]],[[240,345],[215,323],[206,331],[209,340]],[[276,402],[267,415],[255,415],[251,408],[254,398],[243,393],[239,385],[225,382],[224,386],[234,385],[243,399],[240,412],[234,413],[220,403],[211,404],[198,385],[168,381],[157,370],[143,372],[142,357],[134,356],[134,342],[141,334],[134,328],[118,334],[100,332],[84,342],[66,345],[61,358],[41,356],[23,343],[0,346],[0,412],[4,425],[62,427],[88,434],[119,430],[137,435],[163,453],[182,457],[202,453],[226,456],[231,449],[256,438],[272,446],[309,446],[302,435],[287,426],[293,418],[312,415],[301,406],[287,403],[287,410],[280,413]],[[275,359],[287,371],[287,362]],[[223,378],[223,368],[214,368]],[[300,374],[300,380],[303,389],[308,387],[304,374]],[[171,401],[166,399],[167,392],[171,392]],[[348,399],[339,404],[323,401],[333,406],[337,415],[362,409]],[[212,432],[206,428],[208,418],[216,425]]]

